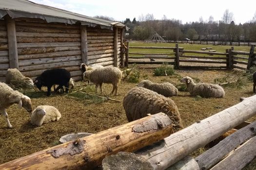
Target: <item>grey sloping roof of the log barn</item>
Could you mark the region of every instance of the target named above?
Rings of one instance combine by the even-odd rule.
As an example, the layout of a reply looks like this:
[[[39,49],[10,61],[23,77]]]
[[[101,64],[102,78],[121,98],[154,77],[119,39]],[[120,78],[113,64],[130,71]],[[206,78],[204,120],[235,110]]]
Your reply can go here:
[[[101,28],[111,30],[114,25],[116,27],[125,27],[125,25],[120,22],[87,17],[59,8],[34,3],[29,0],[0,0],[0,18],[7,14],[11,18],[40,18],[46,22],[61,22],[67,24],[80,22],[81,25],[88,25],[90,27],[98,25]]]

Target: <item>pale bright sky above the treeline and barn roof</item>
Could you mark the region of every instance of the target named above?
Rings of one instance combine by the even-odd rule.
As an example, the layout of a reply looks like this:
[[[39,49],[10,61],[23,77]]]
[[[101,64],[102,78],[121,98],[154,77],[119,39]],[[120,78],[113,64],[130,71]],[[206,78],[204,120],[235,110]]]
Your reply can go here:
[[[215,21],[221,20],[226,9],[234,15],[236,24],[253,19],[256,0],[31,0],[65,9],[85,16],[108,16],[123,21],[125,18],[137,20],[142,14],[153,14],[156,19],[165,15],[169,19],[179,19],[182,23],[198,21],[199,17]]]

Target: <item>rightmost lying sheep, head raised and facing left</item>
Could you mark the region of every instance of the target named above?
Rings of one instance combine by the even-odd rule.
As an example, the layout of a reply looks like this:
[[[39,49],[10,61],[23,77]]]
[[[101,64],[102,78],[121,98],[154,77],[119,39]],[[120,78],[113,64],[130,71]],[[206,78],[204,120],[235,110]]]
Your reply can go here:
[[[190,77],[183,77],[181,83],[186,83],[187,89],[191,96],[201,96],[205,98],[223,98],[225,91],[220,85],[198,83],[195,84]]]

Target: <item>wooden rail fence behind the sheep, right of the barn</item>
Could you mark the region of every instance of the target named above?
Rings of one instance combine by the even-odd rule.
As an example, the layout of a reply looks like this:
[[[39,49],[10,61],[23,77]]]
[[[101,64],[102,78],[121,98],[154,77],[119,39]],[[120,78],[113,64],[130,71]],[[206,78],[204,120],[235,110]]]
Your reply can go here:
[[[251,46],[250,52],[234,51],[234,48],[225,52],[193,51],[185,50],[176,44],[176,47],[129,47],[130,49],[162,49],[170,50],[165,53],[142,53],[128,52],[140,56],[126,57],[128,64],[163,64],[175,65],[177,69],[186,68],[224,68],[224,69],[249,69],[256,66],[255,45]],[[177,50],[178,49],[178,50]],[[148,60],[148,61],[145,61]],[[197,64],[195,64],[197,63]],[[199,63],[199,64],[198,64]]]

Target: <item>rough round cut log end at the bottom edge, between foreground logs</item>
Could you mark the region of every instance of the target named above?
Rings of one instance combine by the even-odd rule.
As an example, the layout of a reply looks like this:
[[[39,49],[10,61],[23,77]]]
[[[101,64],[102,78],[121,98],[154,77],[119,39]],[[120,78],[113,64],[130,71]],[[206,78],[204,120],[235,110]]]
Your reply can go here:
[[[153,170],[153,167],[137,154],[119,152],[103,159],[102,170]]]

